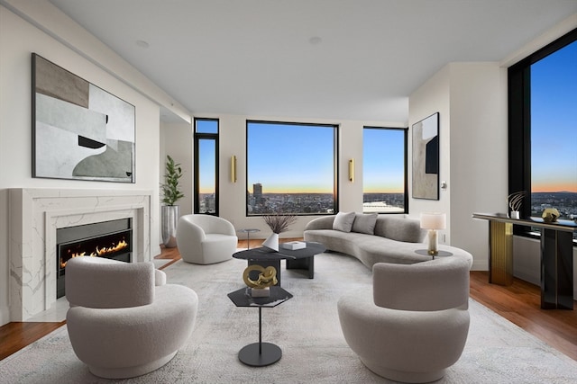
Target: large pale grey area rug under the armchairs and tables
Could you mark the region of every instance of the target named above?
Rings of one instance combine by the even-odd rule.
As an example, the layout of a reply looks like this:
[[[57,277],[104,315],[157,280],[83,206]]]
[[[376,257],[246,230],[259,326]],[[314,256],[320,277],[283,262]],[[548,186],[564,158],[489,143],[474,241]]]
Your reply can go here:
[[[243,287],[246,261],[213,265],[179,261],[165,269],[170,283],[197,291],[193,335],[157,371],[130,380],[90,374],[69,344],[66,326],[0,362],[3,383],[390,383],[367,370],[345,343],[336,310],[345,293],[371,294],[371,272],[356,259],[315,257],[315,278],[281,268],[282,287],[294,297],[262,309],[262,338],[282,358],[253,368],[239,350],[258,342],[258,309],[236,308],[227,293]],[[432,330],[434,332],[434,330]],[[418,346],[416,346],[417,348]],[[439,383],[575,383],[577,362],[471,300],[471,330],[463,356]]]

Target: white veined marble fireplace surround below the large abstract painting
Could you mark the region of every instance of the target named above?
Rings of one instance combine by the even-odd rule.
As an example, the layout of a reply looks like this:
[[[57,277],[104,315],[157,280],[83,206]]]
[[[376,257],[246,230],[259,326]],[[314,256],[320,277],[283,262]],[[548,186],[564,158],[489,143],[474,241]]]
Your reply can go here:
[[[10,321],[56,302],[56,229],[133,219],[133,262],[151,261],[151,191],[17,188],[9,191]]]

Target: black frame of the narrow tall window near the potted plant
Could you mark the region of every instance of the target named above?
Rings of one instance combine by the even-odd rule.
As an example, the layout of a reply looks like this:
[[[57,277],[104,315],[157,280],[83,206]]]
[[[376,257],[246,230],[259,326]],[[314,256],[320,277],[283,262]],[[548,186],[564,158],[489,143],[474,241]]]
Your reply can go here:
[[[205,132],[197,132],[197,121],[216,121],[216,133],[205,133]],[[219,162],[218,162],[218,154],[219,154],[219,132],[220,132],[220,120],[219,119],[212,119],[212,118],[195,118],[194,119],[194,133],[193,133],[193,141],[194,141],[194,213],[195,214],[203,214],[203,215],[212,215],[218,216],[218,207],[219,207],[219,182],[218,182],[218,175],[219,175]],[[199,161],[199,143],[200,140],[215,140],[215,212],[200,212],[200,161]]]

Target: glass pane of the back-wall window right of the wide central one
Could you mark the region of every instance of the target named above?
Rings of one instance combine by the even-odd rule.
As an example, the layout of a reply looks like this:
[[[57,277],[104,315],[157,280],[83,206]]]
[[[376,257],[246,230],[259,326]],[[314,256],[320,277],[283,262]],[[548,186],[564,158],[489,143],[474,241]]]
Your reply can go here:
[[[404,213],[404,129],[367,128],[362,133],[362,211]]]

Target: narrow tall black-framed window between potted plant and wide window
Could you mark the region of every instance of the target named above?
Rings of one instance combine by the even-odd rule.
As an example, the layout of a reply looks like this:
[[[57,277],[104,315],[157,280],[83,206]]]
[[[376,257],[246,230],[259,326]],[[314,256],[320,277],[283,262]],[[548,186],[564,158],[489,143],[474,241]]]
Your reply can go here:
[[[218,215],[218,120],[195,119],[195,213]]]

